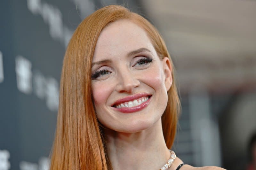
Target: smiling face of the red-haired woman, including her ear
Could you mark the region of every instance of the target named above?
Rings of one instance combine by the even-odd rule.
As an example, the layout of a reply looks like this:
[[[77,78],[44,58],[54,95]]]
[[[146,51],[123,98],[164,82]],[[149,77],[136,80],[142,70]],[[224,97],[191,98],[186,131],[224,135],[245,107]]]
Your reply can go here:
[[[92,95],[99,121],[134,133],[160,120],[172,85],[171,65],[160,60],[146,32],[118,20],[100,33],[92,59]]]

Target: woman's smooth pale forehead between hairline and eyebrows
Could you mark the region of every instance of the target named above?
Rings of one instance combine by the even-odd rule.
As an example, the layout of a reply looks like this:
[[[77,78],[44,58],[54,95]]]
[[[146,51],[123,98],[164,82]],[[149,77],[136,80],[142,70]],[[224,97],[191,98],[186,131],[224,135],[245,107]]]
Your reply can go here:
[[[141,27],[130,20],[120,19],[101,31],[93,61],[105,57],[121,57],[139,48],[147,48],[153,54],[156,53],[147,33]]]

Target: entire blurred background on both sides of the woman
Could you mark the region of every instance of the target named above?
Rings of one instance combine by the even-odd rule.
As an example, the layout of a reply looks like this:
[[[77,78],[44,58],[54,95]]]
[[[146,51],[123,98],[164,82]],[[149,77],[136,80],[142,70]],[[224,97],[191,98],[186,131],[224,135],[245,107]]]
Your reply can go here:
[[[66,46],[78,24],[125,4],[163,35],[182,104],[173,150],[193,166],[247,169],[256,132],[256,1],[0,1],[0,170],[48,170]]]

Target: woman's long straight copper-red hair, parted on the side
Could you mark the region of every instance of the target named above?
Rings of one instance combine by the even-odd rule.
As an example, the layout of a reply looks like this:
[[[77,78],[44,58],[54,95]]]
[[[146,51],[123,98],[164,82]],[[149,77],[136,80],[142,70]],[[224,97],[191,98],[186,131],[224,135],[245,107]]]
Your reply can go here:
[[[170,58],[156,28],[148,20],[123,6],[109,5],[85,18],[76,28],[63,61],[51,170],[110,168],[103,134],[93,108],[91,65],[100,32],[119,19],[129,19],[142,27],[158,56]],[[180,111],[173,69],[172,64],[173,83],[168,91],[168,103],[162,116],[164,139],[168,148],[172,147],[174,141]]]

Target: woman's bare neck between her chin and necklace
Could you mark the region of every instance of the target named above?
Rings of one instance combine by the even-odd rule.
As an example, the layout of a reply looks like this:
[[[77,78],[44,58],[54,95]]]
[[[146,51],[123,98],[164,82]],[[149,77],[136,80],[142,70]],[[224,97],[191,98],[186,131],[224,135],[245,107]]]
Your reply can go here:
[[[160,169],[170,157],[162,130],[161,119],[152,127],[121,133],[104,129],[108,158],[115,169]]]

